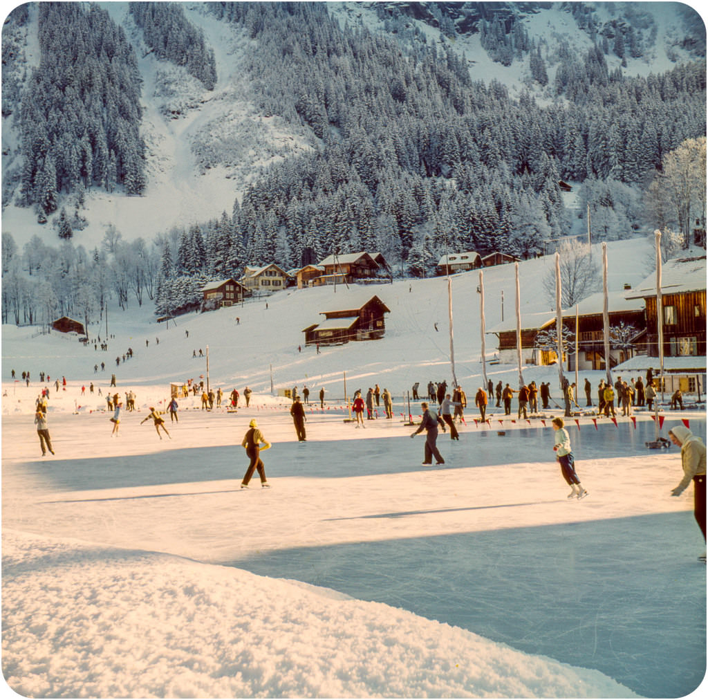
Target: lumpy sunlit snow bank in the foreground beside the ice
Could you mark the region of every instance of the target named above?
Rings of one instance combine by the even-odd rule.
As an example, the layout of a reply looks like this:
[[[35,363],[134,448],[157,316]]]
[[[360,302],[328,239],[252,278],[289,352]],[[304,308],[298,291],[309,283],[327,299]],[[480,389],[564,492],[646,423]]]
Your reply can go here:
[[[3,549],[4,675],[27,696],[636,697],[326,589],[14,531]]]

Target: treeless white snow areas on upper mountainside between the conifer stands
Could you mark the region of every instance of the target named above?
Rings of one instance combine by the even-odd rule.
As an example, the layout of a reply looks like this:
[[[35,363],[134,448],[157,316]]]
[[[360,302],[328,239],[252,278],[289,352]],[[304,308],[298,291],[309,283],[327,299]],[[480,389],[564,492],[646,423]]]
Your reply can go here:
[[[617,12],[619,4],[612,5],[612,11]],[[258,176],[262,166],[312,147],[312,135],[306,130],[286,125],[278,117],[265,117],[256,110],[244,71],[251,40],[242,30],[217,20],[200,3],[184,4],[190,22],[203,30],[207,44],[215,52],[218,84],[215,90],[206,91],[184,69],[156,60],[145,50],[142,33],[135,28],[127,3],[104,6],[135,46],[144,80],[141,133],[147,145],[148,184],[140,197],[91,191],[85,212],[89,225],[81,232],[74,232],[75,244],[92,249],[100,244],[110,223],[124,240],[131,241],[137,237],[152,239],[173,226],[188,227],[193,222],[218,218],[224,210],[231,212],[234,200],[240,198],[246,184]],[[685,6],[675,3],[641,6],[657,28],[655,47],[647,57],[629,58],[624,72],[646,75],[670,69],[675,63],[669,60],[668,49],[675,59],[690,58],[679,45],[684,35]],[[372,3],[334,3],[330,9],[342,25],[362,23],[372,31],[384,31],[384,23],[377,18]],[[605,4],[598,4],[601,16],[609,18],[610,11]],[[578,55],[583,55],[591,45],[588,35],[578,28],[563,4],[539,6],[537,11],[523,15],[522,21],[530,38],[544,42],[542,52],[548,64],[549,84],[557,67],[554,50],[561,40]],[[426,35],[428,43],[442,43],[438,29],[420,20],[411,18],[410,22]],[[38,60],[36,26],[36,13],[30,12],[24,52],[28,66]],[[479,33],[444,41],[467,58],[474,79],[501,81],[512,96],[530,89],[539,101],[552,98],[549,88],[540,89],[529,80],[527,56],[504,67],[493,62],[481,48]],[[613,55],[607,56],[607,62],[610,69],[619,66],[619,58]],[[17,138],[13,118],[4,118],[5,174],[5,168],[13,166]],[[35,234],[46,235],[46,227],[37,223],[31,208],[18,208],[7,201],[4,201],[2,227],[20,247]]]

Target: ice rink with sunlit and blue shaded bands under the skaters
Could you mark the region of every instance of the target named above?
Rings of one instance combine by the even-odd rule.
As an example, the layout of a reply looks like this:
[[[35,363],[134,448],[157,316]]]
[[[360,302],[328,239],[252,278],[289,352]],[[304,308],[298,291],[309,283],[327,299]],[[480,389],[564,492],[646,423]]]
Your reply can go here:
[[[646,414],[568,428],[590,495],[566,499],[541,419],[459,442],[423,467],[423,436],[401,423],[311,412],[307,443],[285,408],[183,411],[159,440],[144,412],[110,438],[105,412],[51,414],[57,455],[39,453],[31,417],[3,424],[3,525],[176,554],[329,587],[607,674],[638,694],[678,697],[705,669],[704,543],[678,449],[649,450]],[[239,489],[241,437],[256,417],[269,491]],[[705,436],[696,412],[682,417]],[[469,419],[469,416],[468,416]],[[498,434],[503,432],[503,435]],[[256,477],[257,479],[257,477]]]

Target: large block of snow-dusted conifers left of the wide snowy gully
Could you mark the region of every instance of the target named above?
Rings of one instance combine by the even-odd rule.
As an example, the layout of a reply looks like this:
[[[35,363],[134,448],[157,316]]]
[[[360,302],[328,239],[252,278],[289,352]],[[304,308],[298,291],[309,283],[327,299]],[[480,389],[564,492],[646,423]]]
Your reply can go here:
[[[145,186],[140,75],[125,35],[96,5],[40,3],[41,60],[23,91],[22,197],[40,220],[61,191]]]

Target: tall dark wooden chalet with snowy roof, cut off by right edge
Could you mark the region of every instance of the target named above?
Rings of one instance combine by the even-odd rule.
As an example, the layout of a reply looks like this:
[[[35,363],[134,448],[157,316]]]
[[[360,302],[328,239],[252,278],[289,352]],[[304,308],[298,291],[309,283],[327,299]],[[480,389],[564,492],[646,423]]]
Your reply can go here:
[[[656,272],[627,293],[646,307],[646,355],[658,361]],[[706,355],[706,259],[678,258],[661,267],[661,323],[665,357]],[[657,362],[658,363],[658,362]]]

